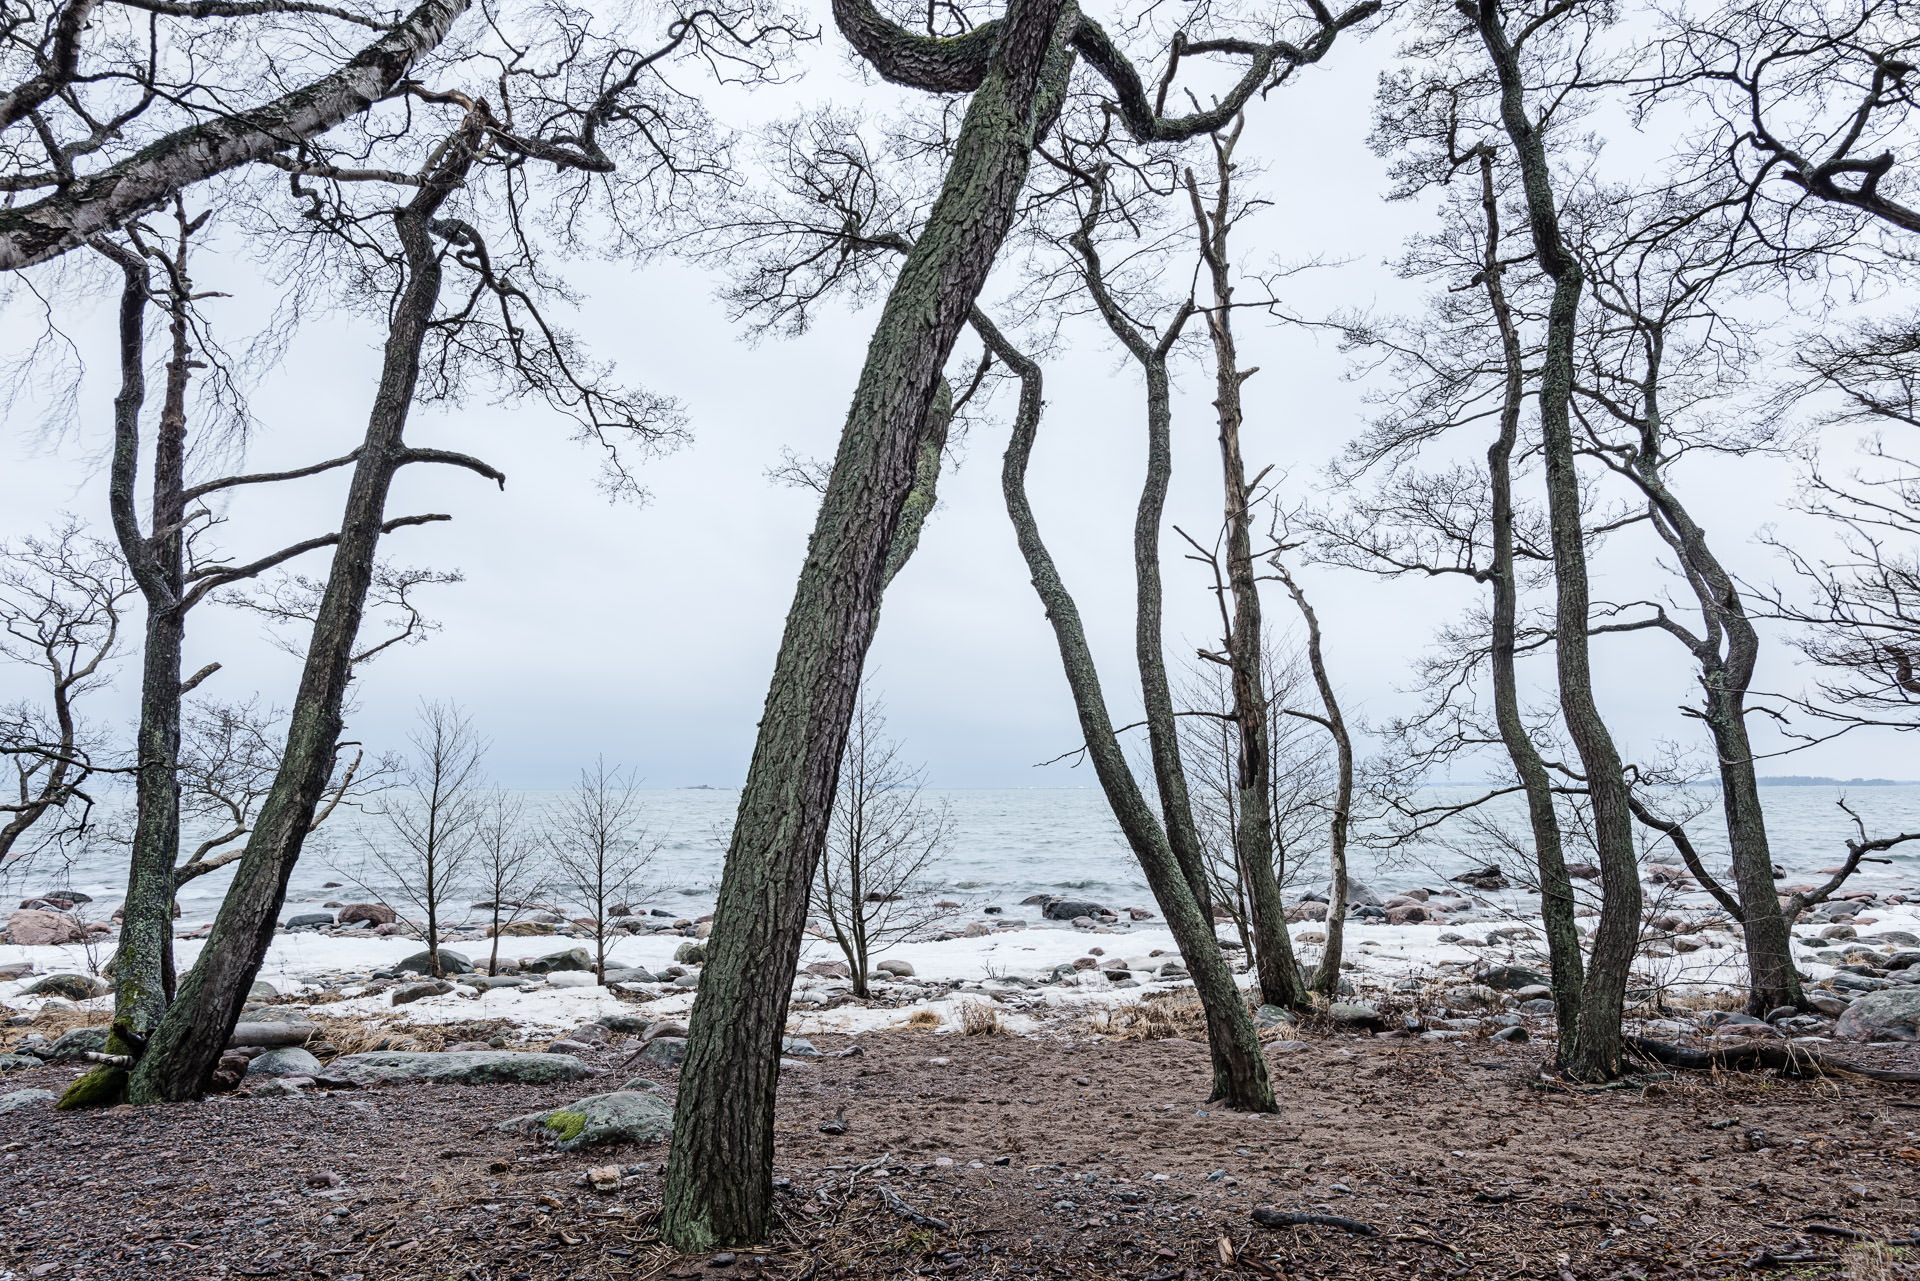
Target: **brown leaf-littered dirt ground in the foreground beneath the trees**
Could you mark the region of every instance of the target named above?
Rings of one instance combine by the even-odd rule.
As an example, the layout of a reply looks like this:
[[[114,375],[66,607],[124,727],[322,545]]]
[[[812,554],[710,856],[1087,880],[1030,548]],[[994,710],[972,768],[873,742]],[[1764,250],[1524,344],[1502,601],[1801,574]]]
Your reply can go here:
[[[1868,1241],[1920,1237],[1920,1087],[1569,1089],[1538,1043],[1384,1037],[1275,1049],[1277,1118],[1208,1106],[1192,1041],[816,1037],[826,1056],[781,1085],[774,1241],[676,1256],[653,1235],[662,1148],[563,1156],[493,1129],[612,1089],[620,1041],[586,1089],[4,1114],[0,1279],[1920,1277],[1920,1246]],[[626,1177],[591,1191],[611,1162]],[[1260,1206],[1373,1235],[1260,1227]]]

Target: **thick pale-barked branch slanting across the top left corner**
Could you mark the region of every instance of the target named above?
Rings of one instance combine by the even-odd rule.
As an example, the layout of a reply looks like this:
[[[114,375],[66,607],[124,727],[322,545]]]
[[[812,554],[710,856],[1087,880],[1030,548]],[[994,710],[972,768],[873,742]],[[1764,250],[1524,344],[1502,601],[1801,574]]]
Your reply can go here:
[[[384,98],[470,0],[426,0],[311,85],[250,111],[171,133],[33,204],[0,209],[0,271],[19,271],[157,209],[173,194],[326,133]]]

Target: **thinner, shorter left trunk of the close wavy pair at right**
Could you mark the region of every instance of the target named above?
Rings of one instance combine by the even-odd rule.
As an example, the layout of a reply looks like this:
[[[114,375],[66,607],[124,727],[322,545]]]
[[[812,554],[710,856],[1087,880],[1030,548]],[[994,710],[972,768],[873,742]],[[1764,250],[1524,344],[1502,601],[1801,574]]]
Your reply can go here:
[[[1521,409],[1526,403],[1526,361],[1521,351],[1521,330],[1507,303],[1501,278],[1500,200],[1494,190],[1494,157],[1480,152],[1480,211],[1486,219],[1486,265],[1482,282],[1494,323],[1500,326],[1500,357],[1505,386],[1500,401],[1500,436],[1486,447],[1486,474],[1492,492],[1494,553],[1488,582],[1494,588],[1492,636],[1488,657],[1494,676],[1494,722],[1507,749],[1513,772],[1526,793],[1526,822],[1534,835],[1534,866],[1540,874],[1540,920],[1548,933],[1548,970],[1553,979],[1553,1014],[1557,1018],[1555,1054],[1561,1062],[1572,1056],[1580,1035],[1580,1003],[1586,987],[1586,966],[1580,956],[1580,931],[1574,926],[1572,878],[1567,876],[1567,855],[1561,843],[1559,814],[1553,810],[1553,780],[1526,718],[1521,714],[1517,663],[1519,576],[1513,561],[1513,447],[1521,436]]]

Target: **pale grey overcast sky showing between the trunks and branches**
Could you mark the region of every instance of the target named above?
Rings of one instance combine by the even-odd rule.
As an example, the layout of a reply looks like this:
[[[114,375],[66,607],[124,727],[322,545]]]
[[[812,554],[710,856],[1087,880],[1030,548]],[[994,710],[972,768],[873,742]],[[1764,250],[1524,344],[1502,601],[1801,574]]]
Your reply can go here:
[[[1384,261],[1425,227],[1427,211],[1382,200],[1384,165],[1365,146],[1373,83],[1392,44],[1390,35],[1342,38],[1325,67],[1250,115],[1242,152],[1267,161],[1263,184],[1275,204],[1242,234],[1246,259],[1317,255],[1344,263],[1290,282],[1300,313],[1417,305]],[[801,83],[764,90],[747,109],[772,117],[824,100],[883,109],[897,92],[858,85],[831,29],[810,61]],[[202,277],[236,296],[215,305],[246,313],[271,303],[244,263],[202,265]],[[478,453],[505,471],[509,484],[497,492],[451,469],[403,472],[390,515],[440,511],[453,520],[401,530],[386,553],[407,565],[459,568],[467,580],[432,593],[430,611],[444,622],[438,636],[382,657],[357,682],[349,736],[397,747],[420,699],[453,699],[492,736],[490,764],[503,784],[563,786],[580,764],[605,755],[647,786],[737,786],[814,507],[812,494],[776,488],[764,471],[781,447],[831,453],[874,313],[828,311],[804,338],[753,346],[714,302],[714,278],[687,265],[591,263],[574,278],[588,294],[576,328],[624,378],[680,398],[693,444],[647,465],[647,505],[612,505],[595,492],[595,457],[568,440],[566,424],[538,409],[476,403],[419,413],[409,428],[417,444]],[[1012,284],[998,280],[987,298]],[[67,302],[67,332],[94,376],[71,432],[44,438],[29,428],[29,415],[13,415],[0,438],[0,536],[42,530],[60,513],[108,532],[102,457],[113,394],[113,307],[106,296],[94,305]],[[33,323],[17,303],[6,313],[15,348]],[[340,319],[303,330],[255,394],[265,430],[248,461],[298,465],[353,447],[382,338],[376,326]],[[1073,350],[1046,371],[1048,413],[1031,494],[1094,634],[1116,718],[1125,722],[1137,705],[1131,522],[1142,471],[1140,386],[1102,334],[1081,326],[1073,338]],[[1344,378],[1346,359],[1331,340],[1248,317],[1240,344],[1242,359],[1261,369],[1246,386],[1250,471],[1277,465],[1294,495],[1311,495],[1323,488],[1323,463],[1365,421],[1361,388]],[[1219,519],[1210,394],[1208,369],[1181,371],[1169,503],[1169,524],[1206,536]],[[1000,503],[1008,409],[1002,401],[995,421],[966,442],[958,471],[943,478],[920,551],[887,595],[870,670],[891,703],[893,732],[927,764],[933,784],[1091,786],[1087,770],[1035,768],[1073,747],[1077,732],[1052,634]],[[1716,459],[1680,480],[1726,559],[1755,580],[1782,574],[1755,534],[1789,519],[1789,467]],[[330,530],[342,494],[344,472],[246,492],[227,513],[225,545],[250,559]],[[305,568],[324,572],[317,559]],[[1601,588],[1624,590],[1640,574],[1634,595],[1645,595],[1647,572],[1645,547],[1620,540],[1607,551]],[[1204,570],[1179,559],[1171,530],[1165,576],[1171,653],[1215,643]],[[1302,578],[1319,607],[1350,718],[1404,711],[1409,663],[1434,626],[1471,603],[1465,584],[1377,582],[1325,568],[1308,568]],[[1267,609],[1277,620],[1290,618],[1279,592]],[[131,720],[131,655],[94,716]],[[255,618],[217,609],[194,615],[186,668],[207,661],[225,670],[205,691],[225,699],[259,691],[284,703],[298,678],[296,661],[265,641]],[[1659,636],[1609,638],[1597,645],[1596,666],[1603,709],[1628,757],[1651,753],[1663,737],[1697,743],[1695,722],[1676,714],[1692,697],[1678,645]],[[1770,643],[1757,684],[1797,689],[1803,674],[1784,645]],[[0,693],[33,691],[19,672],[0,672]],[[1853,736],[1764,762],[1763,774],[1920,774],[1903,764],[1905,755],[1899,741]]]

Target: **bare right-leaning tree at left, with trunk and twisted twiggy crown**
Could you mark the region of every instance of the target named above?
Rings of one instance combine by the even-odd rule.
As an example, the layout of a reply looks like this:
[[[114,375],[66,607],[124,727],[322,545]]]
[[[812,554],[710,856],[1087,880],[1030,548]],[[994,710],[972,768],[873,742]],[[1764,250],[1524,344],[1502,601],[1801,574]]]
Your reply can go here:
[[[699,61],[766,79],[795,27],[732,6],[662,25],[649,48],[636,42],[636,29],[607,35],[593,15],[564,6],[497,21],[482,56],[486,71],[472,85],[459,83],[457,67],[420,69],[403,88],[405,127],[369,125],[338,146],[307,138],[290,165],[294,209],[255,209],[278,238],[303,246],[311,271],[346,278],[359,303],[386,321],[388,342],[367,434],[349,459],[346,511],[280,770],[211,941],[140,1052],[131,1081],[136,1102],[202,1089],[271,943],[286,880],[334,768],[353,657],[367,649],[359,626],[380,536],[419,520],[386,517],[394,476],[413,463],[444,463],[503,480],[470,455],[409,446],[415,401],[492,386],[541,403],[603,446],[612,484],[624,490],[637,490],[628,471],[636,455],[682,438],[672,401],[614,382],[545,313],[547,302],[564,296],[545,259],[555,248],[578,248],[586,240],[580,221],[593,211],[611,219],[620,248],[637,248],[637,225],[647,219],[664,230],[697,179],[724,173],[724,140],[668,71]],[[434,71],[445,81],[434,85]],[[541,163],[536,171],[528,161]],[[530,177],[547,165],[553,177],[534,184]],[[444,296],[449,280],[459,288]]]

